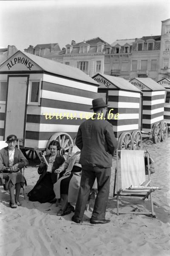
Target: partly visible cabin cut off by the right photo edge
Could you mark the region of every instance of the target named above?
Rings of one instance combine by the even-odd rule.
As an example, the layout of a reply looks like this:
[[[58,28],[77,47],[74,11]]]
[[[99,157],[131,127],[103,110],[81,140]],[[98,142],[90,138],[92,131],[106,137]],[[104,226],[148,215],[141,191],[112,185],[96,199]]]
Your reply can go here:
[[[170,126],[170,79],[163,78],[158,81],[158,84],[163,86],[166,90],[164,103],[164,120]]]

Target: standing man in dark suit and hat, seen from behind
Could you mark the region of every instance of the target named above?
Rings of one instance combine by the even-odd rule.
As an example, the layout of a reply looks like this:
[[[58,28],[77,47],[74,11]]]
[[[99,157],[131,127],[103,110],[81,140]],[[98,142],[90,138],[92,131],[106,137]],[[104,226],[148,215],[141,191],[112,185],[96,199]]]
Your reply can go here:
[[[105,120],[107,105],[102,98],[92,101],[94,115],[79,126],[76,145],[81,150],[79,163],[82,177],[79,195],[72,221],[81,223],[94,180],[97,180],[98,193],[91,224],[105,224],[105,211],[109,196],[112,155],[117,147],[111,123]]]

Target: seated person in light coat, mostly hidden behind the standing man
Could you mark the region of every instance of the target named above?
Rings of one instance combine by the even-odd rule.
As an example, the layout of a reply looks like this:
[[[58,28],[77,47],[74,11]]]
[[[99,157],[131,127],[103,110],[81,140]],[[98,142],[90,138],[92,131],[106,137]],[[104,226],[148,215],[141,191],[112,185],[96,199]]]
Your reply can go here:
[[[58,216],[63,216],[74,212],[74,207],[70,202],[76,202],[79,192],[82,166],[79,164],[80,151],[72,155],[55,172],[63,172],[57,183],[54,184],[56,198],[62,198],[61,209],[57,212]]]

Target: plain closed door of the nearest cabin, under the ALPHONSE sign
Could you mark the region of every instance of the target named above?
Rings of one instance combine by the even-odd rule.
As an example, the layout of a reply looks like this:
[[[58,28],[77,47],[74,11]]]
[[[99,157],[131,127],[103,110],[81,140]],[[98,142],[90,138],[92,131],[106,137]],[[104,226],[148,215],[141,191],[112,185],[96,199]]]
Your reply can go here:
[[[6,105],[5,139],[15,134],[23,139],[24,146],[26,128],[26,99],[28,76],[8,76],[8,95]]]

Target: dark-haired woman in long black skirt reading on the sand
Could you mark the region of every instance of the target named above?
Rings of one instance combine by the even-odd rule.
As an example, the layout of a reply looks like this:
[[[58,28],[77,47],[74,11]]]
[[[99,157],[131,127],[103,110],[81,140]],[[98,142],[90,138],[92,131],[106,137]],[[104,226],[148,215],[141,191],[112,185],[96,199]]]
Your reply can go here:
[[[52,140],[48,145],[50,154],[45,156],[48,166],[42,162],[38,168],[40,178],[34,188],[28,193],[30,201],[47,203],[55,198],[53,184],[57,182],[57,175],[54,172],[64,163],[65,159],[59,154],[61,149],[57,140]]]

